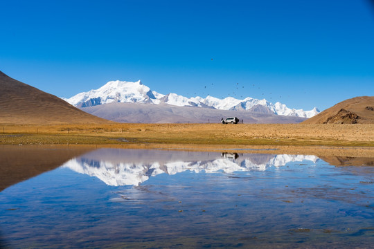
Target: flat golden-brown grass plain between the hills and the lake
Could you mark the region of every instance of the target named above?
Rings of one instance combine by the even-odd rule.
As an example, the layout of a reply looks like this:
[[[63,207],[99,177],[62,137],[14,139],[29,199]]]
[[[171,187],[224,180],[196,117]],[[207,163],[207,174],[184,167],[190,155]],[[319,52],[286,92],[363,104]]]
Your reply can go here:
[[[3,124],[0,125],[0,144],[275,148],[278,153],[314,152],[308,154],[316,155],[339,147],[340,150],[344,148],[346,156],[348,151],[355,151],[354,155],[361,151],[364,156],[374,156],[374,124]]]

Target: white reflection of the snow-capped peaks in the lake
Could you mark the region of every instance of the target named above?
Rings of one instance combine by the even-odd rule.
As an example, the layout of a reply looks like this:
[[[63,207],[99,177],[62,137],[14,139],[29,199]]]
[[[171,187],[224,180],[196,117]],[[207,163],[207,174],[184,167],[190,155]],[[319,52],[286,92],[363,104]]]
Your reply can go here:
[[[236,155],[236,156],[235,156]],[[113,154],[118,156],[118,154]],[[157,157],[157,155],[155,155]],[[193,157],[193,155],[191,155]],[[99,178],[101,181],[111,186],[135,185],[147,181],[152,176],[158,174],[174,175],[180,172],[205,172],[206,174],[224,172],[265,171],[267,167],[282,167],[290,162],[302,162],[310,160],[316,163],[317,156],[304,155],[258,155],[248,154],[238,156],[238,154],[221,154],[220,157],[208,160],[144,160],[131,161],[127,156],[122,160],[99,160],[96,157],[82,156],[66,162],[62,167],[69,168],[80,174],[87,174]]]

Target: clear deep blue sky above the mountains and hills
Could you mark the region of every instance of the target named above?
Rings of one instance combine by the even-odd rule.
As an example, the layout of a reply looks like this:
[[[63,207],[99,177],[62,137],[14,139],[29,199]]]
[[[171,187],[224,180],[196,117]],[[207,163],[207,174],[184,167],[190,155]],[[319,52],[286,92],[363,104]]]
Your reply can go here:
[[[369,0],[0,0],[0,71],[69,98],[110,80],[321,111],[374,95]]]

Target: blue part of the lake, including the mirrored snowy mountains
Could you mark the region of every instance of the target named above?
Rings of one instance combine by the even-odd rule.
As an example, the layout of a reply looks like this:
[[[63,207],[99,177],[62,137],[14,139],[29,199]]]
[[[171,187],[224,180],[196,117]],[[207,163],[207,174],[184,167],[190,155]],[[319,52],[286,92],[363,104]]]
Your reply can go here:
[[[371,248],[373,183],[316,156],[98,149],[0,192],[0,247]]]

